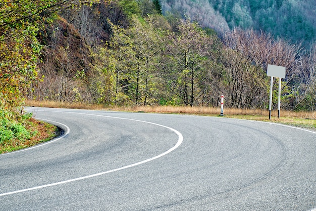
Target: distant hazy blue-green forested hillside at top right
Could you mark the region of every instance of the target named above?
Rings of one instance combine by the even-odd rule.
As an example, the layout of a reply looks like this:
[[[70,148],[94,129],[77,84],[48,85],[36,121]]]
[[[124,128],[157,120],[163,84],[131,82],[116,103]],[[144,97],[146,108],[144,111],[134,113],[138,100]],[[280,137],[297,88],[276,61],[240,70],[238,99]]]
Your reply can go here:
[[[165,14],[199,19],[202,26],[225,32],[239,27],[271,33],[309,46],[315,40],[313,0],[161,0]]]

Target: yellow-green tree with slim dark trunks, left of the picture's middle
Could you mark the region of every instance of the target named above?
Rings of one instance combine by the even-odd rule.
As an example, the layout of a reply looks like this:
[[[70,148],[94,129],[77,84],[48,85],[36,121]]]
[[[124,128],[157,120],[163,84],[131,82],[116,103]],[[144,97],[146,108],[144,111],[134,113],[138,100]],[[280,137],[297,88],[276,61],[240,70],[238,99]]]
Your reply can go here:
[[[136,105],[147,105],[155,90],[153,86],[156,56],[159,44],[153,17],[147,20],[134,16],[131,27],[124,29],[112,24],[112,37],[109,42],[106,69],[115,78],[115,104],[120,93]],[[123,95],[121,95],[123,96]]]

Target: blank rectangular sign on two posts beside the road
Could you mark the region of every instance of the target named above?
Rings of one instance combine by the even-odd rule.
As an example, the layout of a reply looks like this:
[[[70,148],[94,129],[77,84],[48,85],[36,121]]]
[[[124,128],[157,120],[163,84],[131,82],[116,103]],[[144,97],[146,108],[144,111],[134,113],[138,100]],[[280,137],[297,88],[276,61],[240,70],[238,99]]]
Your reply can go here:
[[[271,76],[270,101],[269,101],[269,119],[271,119],[271,110],[272,110],[273,77],[278,77],[279,78],[278,118],[280,118],[281,78],[285,78],[285,67],[268,64],[267,75]]]

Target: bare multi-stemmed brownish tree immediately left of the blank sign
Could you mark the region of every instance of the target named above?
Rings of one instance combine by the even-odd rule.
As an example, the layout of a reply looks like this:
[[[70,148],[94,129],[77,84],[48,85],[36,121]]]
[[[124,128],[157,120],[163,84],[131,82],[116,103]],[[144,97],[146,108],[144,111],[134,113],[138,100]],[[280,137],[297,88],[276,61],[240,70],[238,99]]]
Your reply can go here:
[[[224,37],[222,62],[227,78],[228,103],[234,108],[261,107],[258,103],[267,94],[267,75],[261,66],[264,60],[262,45],[268,39],[257,36],[253,31],[233,30]],[[261,64],[261,65],[257,65]]]

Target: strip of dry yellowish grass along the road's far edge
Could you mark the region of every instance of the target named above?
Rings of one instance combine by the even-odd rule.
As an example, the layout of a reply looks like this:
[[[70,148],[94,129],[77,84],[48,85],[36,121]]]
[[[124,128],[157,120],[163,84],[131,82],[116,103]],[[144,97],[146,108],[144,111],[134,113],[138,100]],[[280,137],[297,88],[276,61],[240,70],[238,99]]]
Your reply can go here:
[[[130,106],[130,107],[104,107],[102,105],[87,105],[82,103],[60,103],[51,101],[27,101],[28,106],[52,107],[52,108],[75,108],[75,109],[93,109],[93,110],[114,110],[126,112],[147,112],[147,113],[173,113],[173,114],[191,114],[205,116],[220,116],[220,108],[209,107],[184,107],[184,106]],[[258,121],[270,121],[280,124],[298,126],[316,131],[316,112],[295,112],[281,110],[281,117],[278,118],[277,111],[272,111],[271,120],[269,120],[269,111],[254,109],[224,109],[224,117],[238,118]]]

